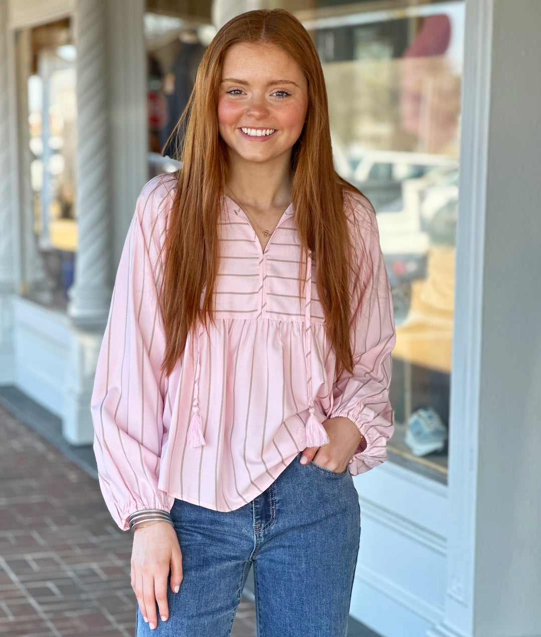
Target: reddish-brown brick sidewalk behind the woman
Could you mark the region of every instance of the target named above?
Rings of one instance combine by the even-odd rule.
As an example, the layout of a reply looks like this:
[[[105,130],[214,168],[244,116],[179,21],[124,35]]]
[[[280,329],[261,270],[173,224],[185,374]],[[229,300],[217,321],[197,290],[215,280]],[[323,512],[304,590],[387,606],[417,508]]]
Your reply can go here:
[[[132,637],[131,533],[97,482],[0,407],[0,635]],[[255,635],[242,599],[232,637]]]

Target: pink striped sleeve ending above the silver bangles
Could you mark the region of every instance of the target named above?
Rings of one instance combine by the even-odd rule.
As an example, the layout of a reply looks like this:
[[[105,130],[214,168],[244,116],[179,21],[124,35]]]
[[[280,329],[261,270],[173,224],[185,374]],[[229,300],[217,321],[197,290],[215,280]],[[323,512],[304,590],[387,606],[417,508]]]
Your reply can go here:
[[[157,487],[167,383],[160,371],[164,334],[155,279],[163,192],[154,178],[138,197],[120,257],[90,404],[99,485],[122,531],[129,528],[131,513],[170,512],[174,503]]]

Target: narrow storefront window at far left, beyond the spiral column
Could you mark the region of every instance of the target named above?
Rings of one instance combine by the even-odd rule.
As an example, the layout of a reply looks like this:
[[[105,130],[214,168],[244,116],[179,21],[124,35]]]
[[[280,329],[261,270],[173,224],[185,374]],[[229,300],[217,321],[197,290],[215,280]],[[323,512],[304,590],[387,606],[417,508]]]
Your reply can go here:
[[[23,289],[57,308],[67,305],[77,248],[75,210],[75,47],[69,20],[18,33],[23,118]],[[25,124],[26,122],[26,124]]]

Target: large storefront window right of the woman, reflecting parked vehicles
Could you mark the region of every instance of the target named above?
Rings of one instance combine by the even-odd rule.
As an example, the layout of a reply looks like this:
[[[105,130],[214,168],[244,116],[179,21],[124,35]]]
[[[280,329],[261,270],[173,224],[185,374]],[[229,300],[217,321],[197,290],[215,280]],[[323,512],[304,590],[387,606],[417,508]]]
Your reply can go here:
[[[444,482],[464,3],[324,4],[296,15],[321,57],[336,169],[375,208],[393,289],[389,457]]]

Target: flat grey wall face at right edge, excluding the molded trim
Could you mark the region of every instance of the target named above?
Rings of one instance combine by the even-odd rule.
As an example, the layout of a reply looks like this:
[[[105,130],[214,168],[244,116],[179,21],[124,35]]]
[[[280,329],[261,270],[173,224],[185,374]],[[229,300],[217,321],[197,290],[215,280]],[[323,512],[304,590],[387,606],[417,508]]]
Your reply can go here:
[[[533,637],[541,634],[541,2],[494,0],[493,19],[474,634]]]

